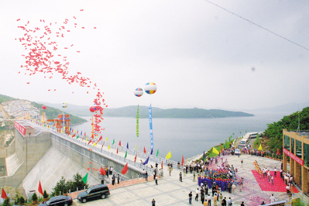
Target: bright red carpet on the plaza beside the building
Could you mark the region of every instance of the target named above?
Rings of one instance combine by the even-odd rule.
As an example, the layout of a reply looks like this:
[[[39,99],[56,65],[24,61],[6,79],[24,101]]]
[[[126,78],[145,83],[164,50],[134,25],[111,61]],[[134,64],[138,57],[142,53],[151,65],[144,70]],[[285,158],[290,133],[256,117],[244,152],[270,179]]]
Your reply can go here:
[[[279,172],[277,172],[277,176],[273,176],[273,184],[268,182],[268,178],[260,178],[260,174],[256,170],[251,170],[253,176],[255,177],[256,181],[259,183],[259,186],[262,191],[271,191],[271,192],[286,192],[286,184],[284,184],[283,179],[280,177]],[[271,175],[274,172],[271,171]],[[298,190],[293,187],[293,192],[297,193]]]

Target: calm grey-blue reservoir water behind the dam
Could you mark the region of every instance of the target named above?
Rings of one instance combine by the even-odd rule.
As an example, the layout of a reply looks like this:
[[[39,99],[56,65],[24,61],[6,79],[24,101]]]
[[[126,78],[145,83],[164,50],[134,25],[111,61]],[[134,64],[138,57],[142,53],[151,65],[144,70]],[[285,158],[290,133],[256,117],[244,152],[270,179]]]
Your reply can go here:
[[[159,156],[165,157],[172,152],[172,160],[181,161],[209,150],[212,146],[224,143],[230,135],[242,136],[250,132],[262,132],[267,124],[277,122],[284,112],[254,112],[254,117],[229,117],[215,119],[174,119],[152,118],[154,155],[159,149]],[[91,117],[83,117],[89,120],[84,124],[73,126],[75,130],[87,135],[91,133]],[[122,142],[122,146],[128,143],[129,148],[137,148],[141,151],[146,148],[150,152],[150,131],[148,119],[139,119],[139,137],[136,135],[136,118],[133,117],[104,117],[101,122],[102,137],[115,144]],[[295,128],[296,129],[296,128]],[[241,133],[240,133],[241,132]],[[99,136],[100,137],[100,136]]]

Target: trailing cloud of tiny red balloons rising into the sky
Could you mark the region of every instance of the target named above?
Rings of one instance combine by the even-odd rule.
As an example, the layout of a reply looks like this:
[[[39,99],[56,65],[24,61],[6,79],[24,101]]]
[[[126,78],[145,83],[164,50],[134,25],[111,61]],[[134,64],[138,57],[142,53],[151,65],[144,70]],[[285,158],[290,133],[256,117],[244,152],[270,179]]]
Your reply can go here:
[[[21,19],[17,19],[16,21],[20,20]],[[75,16],[73,16],[73,20],[76,20]],[[82,73],[77,72],[76,75],[69,75],[69,62],[67,61],[67,56],[64,56],[61,60],[57,59],[58,56],[60,57],[62,55],[58,54],[57,50],[60,47],[58,47],[56,38],[60,36],[59,31],[61,31],[62,33],[61,37],[65,38],[66,32],[71,32],[71,30],[65,31],[65,27],[67,27],[67,25],[71,23],[72,25],[77,25],[77,23],[73,23],[69,21],[69,19],[65,19],[63,25],[60,25],[56,28],[56,30],[53,30],[51,27],[52,23],[45,23],[43,19],[40,19],[38,25],[44,24],[44,26],[36,26],[34,28],[30,28],[29,21],[27,21],[27,24],[25,25],[18,26],[23,31],[21,37],[18,38],[18,40],[21,45],[23,45],[25,50],[27,50],[27,54],[22,55],[25,58],[25,65],[21,65],[21,68],[25,69],[25,74],[29,76],[41,72],[46,73],[48,75],[48,78],[52,78],[54,73],[60,73],[62,75],[62,80],[66,80],[68,84],[78,83],[80,87],[84,87],[87,85],[87,87],[92,86],[93,89],[96,89],[97,85],[91,84],[89,78],[83,77]],[[84,29],[84,27],[82,27],[82,29]],[[37,34],[36,36],[33,36],[35,32],[41,32],[42,34]],[[70,48],[68,46],[69,45],[62,45],[61,47],[67,50]],[[71,47],[72,46],[73,44],[71,44]],[[77,52],[80,53],[80,51]],[[30,84],[30,82],[27,82],[27,84]],[[52,89],[49,89],[48,91],[51,90]],[[107,105],[104,104],[104,93],[101,93],[100,89],[96,90],[97,94],[95,96],[95,99],[93,100],[93,103],[95,103],[95,124],[93,124],[93,126],[95,132],[99,134],[101,133],[100,130],[103,130],[99,125],[103,119],[102,115],[104,108],[101,105],[104,105],[106,107]],[[56,89],[54,89],[54,91],[56,91]],[[87,91],[87,93],[89,92]]]

